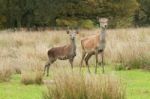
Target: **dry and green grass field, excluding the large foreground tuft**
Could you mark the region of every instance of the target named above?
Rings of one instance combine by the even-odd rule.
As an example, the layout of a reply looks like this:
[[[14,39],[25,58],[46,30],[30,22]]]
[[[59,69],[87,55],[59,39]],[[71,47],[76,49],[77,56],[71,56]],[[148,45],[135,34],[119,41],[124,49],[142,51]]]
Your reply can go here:
[[[77,56],[74,72],[78,72],[81,59],[80,40],[99,30],[82,30],[77,36]],[[61,35],[61,37],[60,37]],[[0,99],[42,99],[47,84],[29,84],[22,82],[41,73],[47,61],[47,50],[53,46],[69,42],[65,31],[27,32],[9,30],[0,32]],[[127,99],[150,98],[150,28],[108,30],[105,50],[106,74],[115,75],[126,89]],[[62,65],[63,64],[63,65]],[[90,60],[94,74],[95,59]],[[119,64],[119,65],[118,65]],[[53,70],[70,68],[68,61],[57,61],[50,68],[50,77],[54,79]],[[133,68],[131,70],[125,70]],[[40,71],[40,72],[39,72]],[[99,68],[97,75],[102,75]],[[83,73],[86,76],[87,69]],[[34,75],[32,75],[34,74]],[[93,75],[92,74],[92,75]],[[39,77],[42,77],[39,75]],[[30,81],[30,80],[29,80]]]

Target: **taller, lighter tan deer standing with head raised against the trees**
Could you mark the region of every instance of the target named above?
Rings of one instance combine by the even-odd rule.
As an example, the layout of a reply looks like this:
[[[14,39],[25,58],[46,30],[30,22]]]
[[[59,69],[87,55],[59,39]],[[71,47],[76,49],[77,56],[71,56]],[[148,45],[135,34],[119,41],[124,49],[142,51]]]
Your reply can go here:
[[[96,35],[92,35],[89,37],[85,37],[81,40],[81,46],[82,46],[82,59],[81,59],[81,67],[83,64],[83,60],[86,63],[86,66],[88,67],[88,71],[90,73],[89,69],[89,64],[88,61],[91,58],[92,55],[95,55],[96,58],[96,67],[95,67],[95,73],[97,73],[97,64],[98,64],[98,54],[101,53],[101,65],[102,65],[102,72],[104,73],[104,49],[106,45],[106,40],[105,40],[105,34],[106,34],[106,27],[108,25],[108,19],[107,18],[99,18],[99,23],[101,32]]]

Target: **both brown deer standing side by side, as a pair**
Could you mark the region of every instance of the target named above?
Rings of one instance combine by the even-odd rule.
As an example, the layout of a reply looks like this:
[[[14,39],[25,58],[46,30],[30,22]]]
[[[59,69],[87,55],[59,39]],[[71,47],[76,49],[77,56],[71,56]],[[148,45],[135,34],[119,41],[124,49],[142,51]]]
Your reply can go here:
[[[95,55],[96,57],[96,67],[95,67],[95,73],[97,72],[97,64],[98,64],[98,54],[101,53],[102,57],[102,67],[103,67],[103,73],[104,73],[104,65],[103,65],[103,59],[104,59],[104,49],[105,49],[105,34],[106,34],[106,28],[108,24],[107,18],[100,18],[99,19],[100,27],[102,28],[101,32],[97,35],[92,35],[89,37],[85,37],[81,40],[81,46],[82,46],[82,59],[81,59],[81,66],[80,70],[83,65],[83,60],[86,63],[86,66],[89,69],[88,61],[91,58],[92,55]],[[59,60],[69,60],[71,67],[73,69],[73,60],[76,56],[76,42],[75,37],[76,34],[78,34],[78,30],[67,30],[67,34],[70,36],[70,44],[60,47],[54,47],[48,50],[48,62],[46,63],[44,67],[44,74],[47,70],[47,76],[49,75],[49,68],[50,65],[53,64],[57,59]]]

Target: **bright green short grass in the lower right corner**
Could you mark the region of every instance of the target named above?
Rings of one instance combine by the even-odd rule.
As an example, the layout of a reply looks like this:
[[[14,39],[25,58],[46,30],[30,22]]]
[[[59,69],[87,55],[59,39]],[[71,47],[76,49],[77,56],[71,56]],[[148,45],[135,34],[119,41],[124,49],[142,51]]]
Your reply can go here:
[[[126,83],[127,99],[150,99],[150,72],[131,70],[116,74]]]

